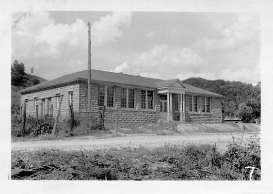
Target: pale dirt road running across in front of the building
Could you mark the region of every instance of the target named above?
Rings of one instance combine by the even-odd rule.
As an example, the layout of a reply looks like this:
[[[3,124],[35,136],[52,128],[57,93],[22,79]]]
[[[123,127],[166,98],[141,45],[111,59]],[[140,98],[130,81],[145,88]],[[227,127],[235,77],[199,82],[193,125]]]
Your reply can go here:
[[[259,133],[256,133],[259,137]],[[254,133],[244,133],[243,140],[253,136]],[[225,146],[228,141],[241,141],[242,133],[210,133],[210,134],[194,134],[194,135],[149,135],[149,136],[126,136],[98,139],[95,137],[71,138],[70,140],[58,141],[34,141],[34,142],[15,142],[12,143],[13,151],[24,150],[39,150],[39,149],[60,149],[60,150],[94,150],[107,148],[122,148],[125,146],[131,147],[156,147],[170,145],[185,145],[185,144],[216,144],[217,149],[221,152],[225,151]]]

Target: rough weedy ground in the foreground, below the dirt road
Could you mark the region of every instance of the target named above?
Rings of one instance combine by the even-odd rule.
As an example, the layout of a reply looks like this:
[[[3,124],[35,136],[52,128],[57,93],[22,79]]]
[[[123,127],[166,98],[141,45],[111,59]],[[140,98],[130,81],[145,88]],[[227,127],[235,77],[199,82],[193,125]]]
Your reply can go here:
[[[12,171],[22,166],[32,175],[12,179],[73,180],[260,180],[259,139],[236,142],[220,155],[215,146],[119,147],[85,151],[13,151]],[[19,177],[19,178],[18,178]]]

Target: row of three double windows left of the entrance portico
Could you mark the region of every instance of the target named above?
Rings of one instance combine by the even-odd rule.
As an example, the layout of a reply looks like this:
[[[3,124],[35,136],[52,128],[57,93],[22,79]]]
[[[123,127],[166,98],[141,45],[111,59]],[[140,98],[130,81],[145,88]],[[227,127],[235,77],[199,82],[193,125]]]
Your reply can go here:
[[[114,105],[114,86],[98,85],[98,106],[113,107]],[[136,108],[136,91],[134,88],[121,88],[120,106],[121,108]],[[153,109],[154,93],[151,90],[141,90],[141,109]]]

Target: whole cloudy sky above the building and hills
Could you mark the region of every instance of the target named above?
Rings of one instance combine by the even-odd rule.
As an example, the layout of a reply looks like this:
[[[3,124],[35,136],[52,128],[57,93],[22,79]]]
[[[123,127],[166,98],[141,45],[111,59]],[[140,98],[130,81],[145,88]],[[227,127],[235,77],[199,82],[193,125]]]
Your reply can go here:
[[[87,69],[88,21],[93,69],[163,80],[261,79],[260,21],[248,13],[26,13],[12,24],[12,62],[47,80]]]

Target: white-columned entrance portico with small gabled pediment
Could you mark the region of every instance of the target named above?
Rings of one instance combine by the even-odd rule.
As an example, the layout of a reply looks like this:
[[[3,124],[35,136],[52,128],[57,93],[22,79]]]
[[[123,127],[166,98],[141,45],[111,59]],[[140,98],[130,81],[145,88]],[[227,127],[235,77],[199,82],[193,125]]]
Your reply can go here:
[[[179,120],[185,120],[185,91],[187,88],[178,79],[159,81],[157,93],[163,97],[161,99],[161,118],[166,119],[167,122],[173,121],[173,113],[179,113]],[[173,97],[178,95],[178,99],[174,101]],[[164,96],[167,96],[164,99]],[[167,105],[166,109],[164,109]],[[166,112],[165,112],[166,111]],[[166,115],[166,116],[165,116]]]

